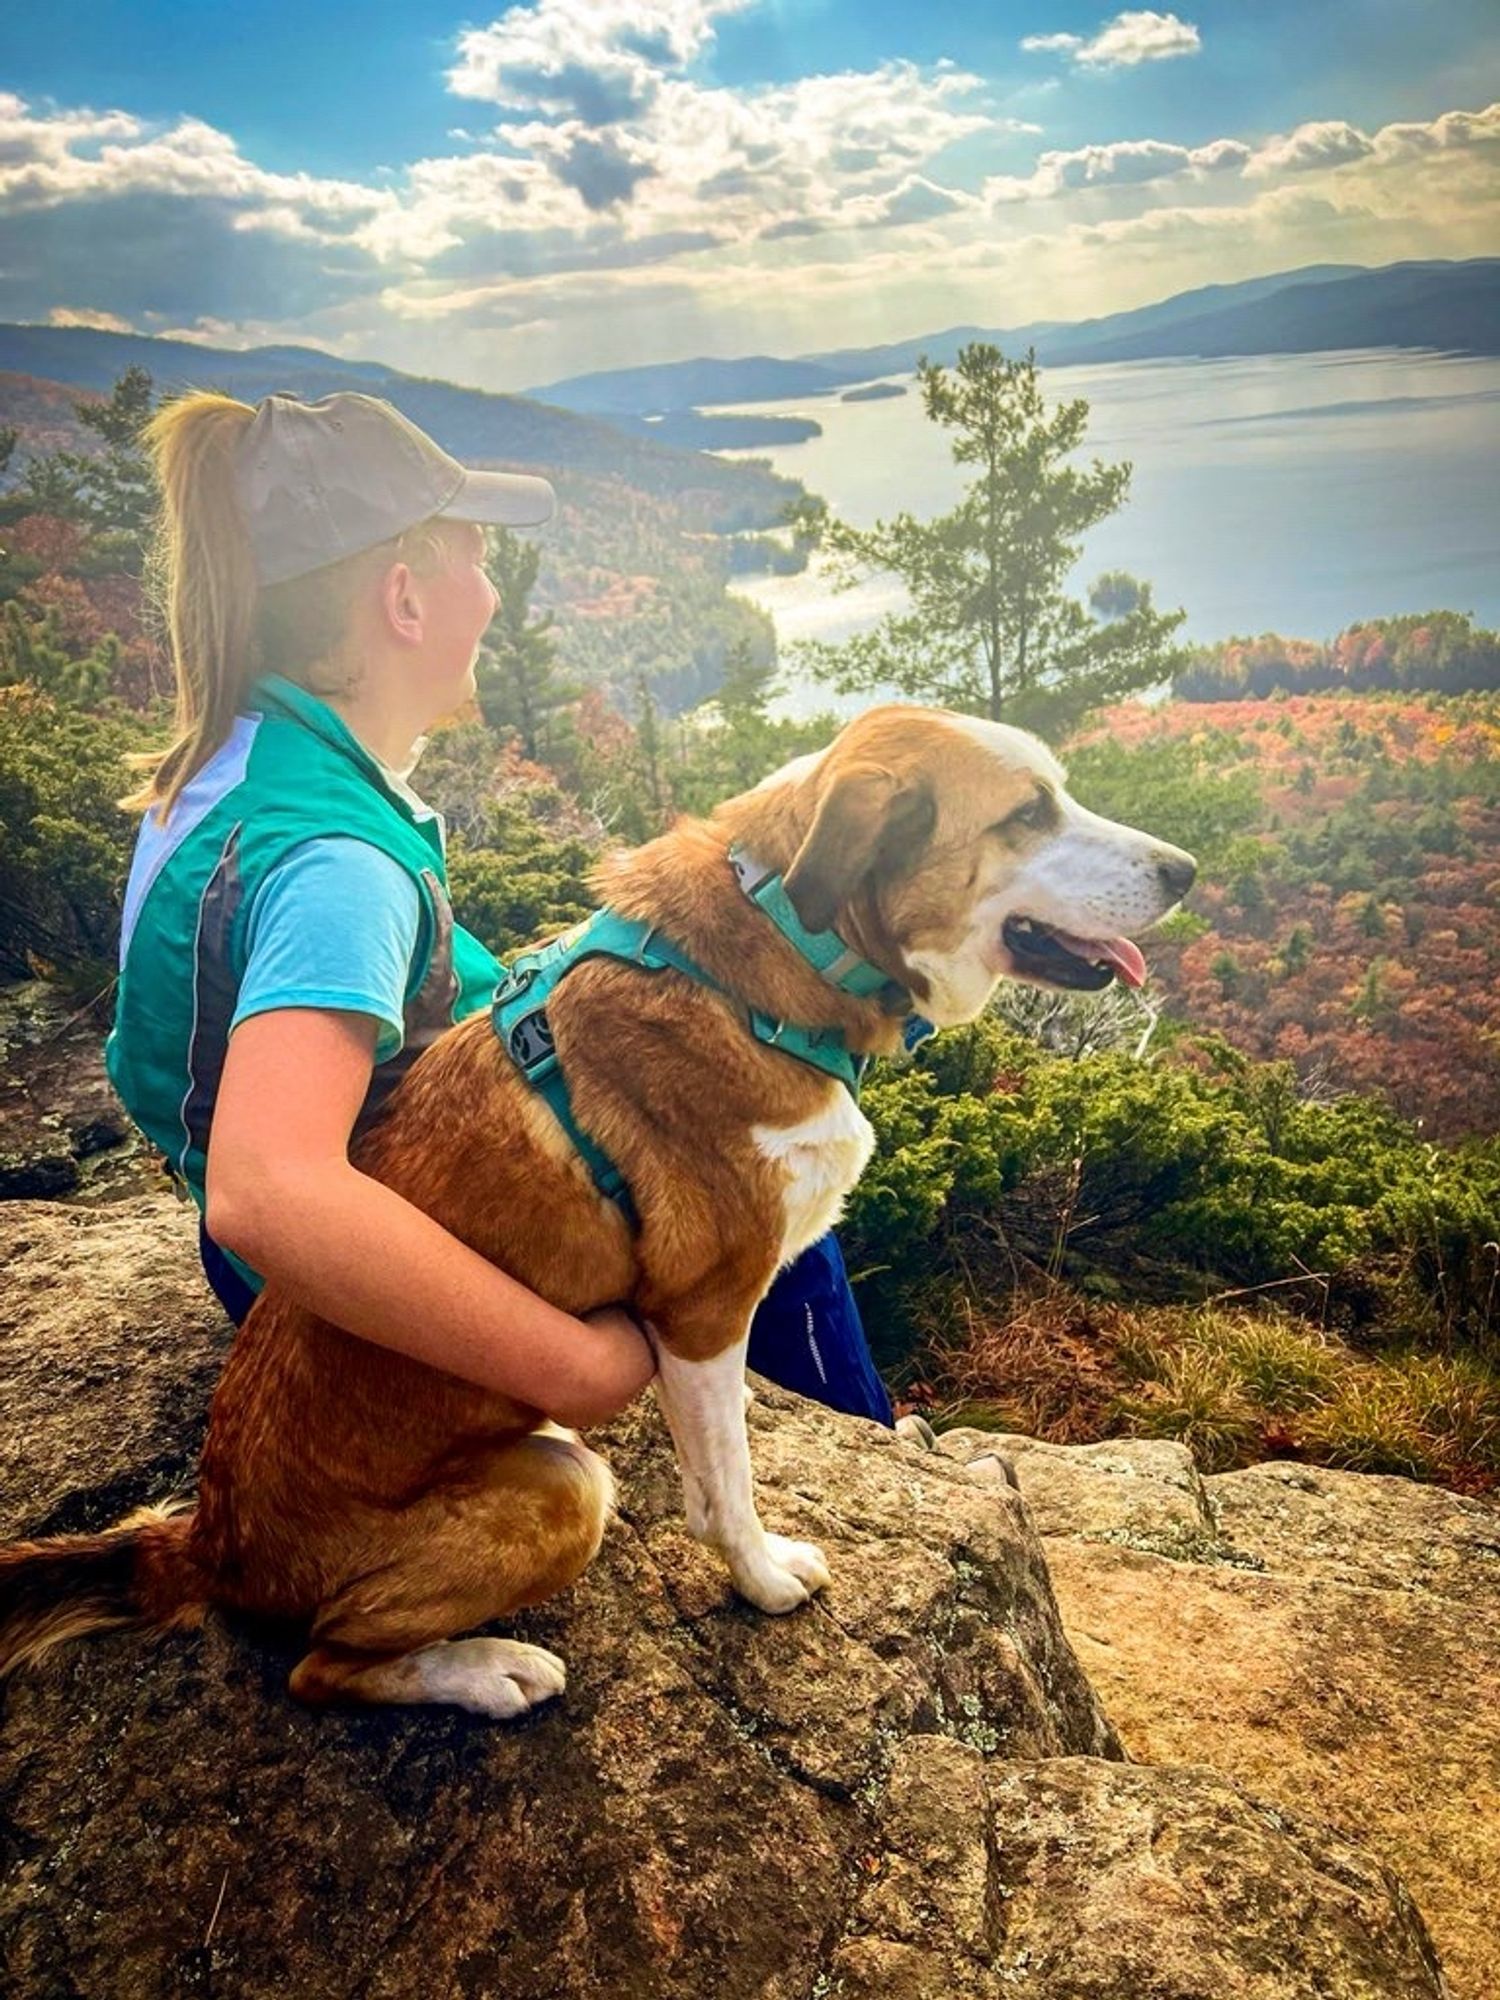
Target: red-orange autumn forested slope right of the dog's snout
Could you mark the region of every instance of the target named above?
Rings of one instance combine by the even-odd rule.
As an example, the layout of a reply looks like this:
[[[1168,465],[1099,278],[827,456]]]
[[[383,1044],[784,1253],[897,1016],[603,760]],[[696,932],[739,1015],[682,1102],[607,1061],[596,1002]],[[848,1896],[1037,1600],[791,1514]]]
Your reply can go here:
[[[1500,1128],[1500,698],[1134,704],[1072,770],[1200,856],[1152,950],[1172,1016],[1434,1138]]]

